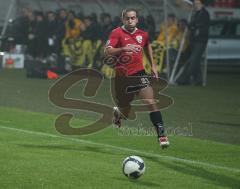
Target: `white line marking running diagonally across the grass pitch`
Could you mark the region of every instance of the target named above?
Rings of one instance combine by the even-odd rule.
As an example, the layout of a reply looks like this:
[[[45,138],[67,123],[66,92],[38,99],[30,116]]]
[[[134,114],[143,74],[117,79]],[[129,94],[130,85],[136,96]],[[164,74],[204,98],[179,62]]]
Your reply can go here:
[[[12,130],[12,131],[17,131],[17,132],[21,132],[21,133],[31,134],[31,135],[39,135],[39,136],[52,137],[52,138],[61,138],[61,139],[70,140],[70,141],[74,141],[74,142],[80,142],[80,143],[83,143],[83,144],[90,144],[90,145],[94,145],[94,146],[112,148],[112,149],[115,149],[115,150],[122,150],[122,151],[126,151],[126,152],[131,152],[131,153],[134,152],[134,153],[137,153],[137,154],[156,157],[156,158],[160,158],[160,159],[164,159],[164,160],[178,161],[178,162],[188,163],[188,164],[192,164],[192,165],[200,165],[200,166],[214,168],[214,169],[223,169],[223,170],[230,171],[230,172],[237,172],[237,173],[240,172],[240,169],[237,169],[237,168],[219,166],[219,165],[214,165],[214,164],[210,164],[210,163],[206,163],[206,162],[183,159],[183,158],[178,158],[178,157],[174,157],[174,156],[163,156],[163,155],[160,155],[160,154],[154,154],[154,153],[150,153],[150,152],[144,152],[144,151],[134,150],[134,149],[125,148],[125,147],[118,147],[118,146],[113,146],[113,145],[109,145],[109,144],[96,143],[96,142],[83,140],[83,139],[78,139],[78,138],[63,137],[63,136],[60,136],[60,135],[55,135],[55,134],[50,134],[50,133],[43,133],[43,132],[38,132],[38,131],[17,129],[17,128],[13,128],[13,127],[2,126],[2,125],[0,125],[0,129]]]

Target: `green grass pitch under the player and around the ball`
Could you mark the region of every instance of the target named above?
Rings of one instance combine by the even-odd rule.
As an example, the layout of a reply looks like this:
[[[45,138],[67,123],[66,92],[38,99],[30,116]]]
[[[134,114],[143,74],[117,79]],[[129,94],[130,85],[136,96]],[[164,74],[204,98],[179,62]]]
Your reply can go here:
[[[211,74],[206,87],[169,86],[174,105],[163,111],[171,146],[161,150],[156,137],[137,135],[151,127],[147,114],[86,136],[64,136],[54,128],[66,111],[52,105],[54,81],[27,79],[24,71],[0,70],[0,188],[3,189],[239,189],[240,76]],[[82,84],[69,91],[80,98]],[[106,80],[95,100],[110,104]],[[81,127],[98,115],[73,111]],[[136,131],[136,130],[135,130]],[[121,163],[138,155],[145,174],[129,180]]]

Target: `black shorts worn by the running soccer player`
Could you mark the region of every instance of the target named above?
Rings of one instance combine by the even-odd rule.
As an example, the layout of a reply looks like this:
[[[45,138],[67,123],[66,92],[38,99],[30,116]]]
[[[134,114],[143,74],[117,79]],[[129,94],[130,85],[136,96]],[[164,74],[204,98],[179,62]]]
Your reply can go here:
[[[150,80],[145,71],[137,72],[131,76],[116,76],[114,87],[117,106],[120,108],[128,107],[134,96],[141,89],[150,85]]]

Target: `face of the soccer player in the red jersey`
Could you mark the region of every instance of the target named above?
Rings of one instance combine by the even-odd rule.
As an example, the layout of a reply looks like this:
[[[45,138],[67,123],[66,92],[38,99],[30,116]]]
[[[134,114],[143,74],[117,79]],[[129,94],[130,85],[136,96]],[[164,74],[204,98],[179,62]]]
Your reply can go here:
[[[122,18],[123,25],[129,32],[133,32],[138,23],[138,18],[136,12],[129,11],[126,12],[125,16]]]

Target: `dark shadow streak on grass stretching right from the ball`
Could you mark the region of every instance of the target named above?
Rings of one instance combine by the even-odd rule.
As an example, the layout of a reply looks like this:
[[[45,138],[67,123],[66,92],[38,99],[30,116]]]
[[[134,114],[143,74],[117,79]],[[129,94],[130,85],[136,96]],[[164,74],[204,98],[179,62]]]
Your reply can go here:
[[[174,161],[166,162],[166,161],[161,161],[158,158],[149,157],[149,156],[145,156],[145,158],[151,161],[154,161],[156,163],[159,163],[161,164],[161,166],[164,166],[168,169],[172,169],[176,172],[183,173],[185,175],[190,175],[192,177],[199,177],[204,180],[209,180],[212,184],[216,186],[228,187],[232,189],[240,188],[240,179],[222,175],[217,172],[209,171],[199,166],[194,166],[184,162],[174,162]]]

